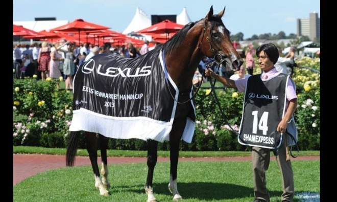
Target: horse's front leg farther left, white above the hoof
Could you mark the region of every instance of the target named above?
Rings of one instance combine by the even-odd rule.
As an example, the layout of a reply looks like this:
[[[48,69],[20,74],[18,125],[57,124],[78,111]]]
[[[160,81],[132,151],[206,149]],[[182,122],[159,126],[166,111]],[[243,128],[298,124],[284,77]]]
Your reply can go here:
[[[157,164],[158,158],[158,142],[148,140],[148,176],[145,184],[145,192],[148,194],[148,202],[157,202],[153,194],[153,171]]]

